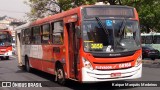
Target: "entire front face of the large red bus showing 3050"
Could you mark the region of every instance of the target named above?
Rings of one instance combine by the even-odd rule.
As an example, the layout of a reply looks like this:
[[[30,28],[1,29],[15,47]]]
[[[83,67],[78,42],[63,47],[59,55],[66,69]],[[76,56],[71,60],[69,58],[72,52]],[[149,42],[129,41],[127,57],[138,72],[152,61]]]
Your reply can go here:
[[[135,8],[90,6],[82,12],[82,81],[140,78],[142,51]]]

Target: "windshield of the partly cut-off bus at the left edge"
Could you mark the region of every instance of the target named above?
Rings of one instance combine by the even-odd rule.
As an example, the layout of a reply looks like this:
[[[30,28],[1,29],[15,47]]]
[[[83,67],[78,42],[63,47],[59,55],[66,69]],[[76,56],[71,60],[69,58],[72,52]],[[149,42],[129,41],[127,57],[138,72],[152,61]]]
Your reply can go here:
[[[7,34],[3,33],[0,34],[0,46],[11,46],[12,37]]]

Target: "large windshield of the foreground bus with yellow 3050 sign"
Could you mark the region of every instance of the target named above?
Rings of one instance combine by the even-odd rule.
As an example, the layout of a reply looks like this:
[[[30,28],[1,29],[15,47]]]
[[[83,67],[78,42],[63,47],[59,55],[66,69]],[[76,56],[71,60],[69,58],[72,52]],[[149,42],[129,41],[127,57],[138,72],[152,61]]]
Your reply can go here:
[[[128,19],[99,20],[85,20],[83,22],[85,52],[109,53],[140,49],[138,21]],[[101,25],[98,22],[102,22]]]

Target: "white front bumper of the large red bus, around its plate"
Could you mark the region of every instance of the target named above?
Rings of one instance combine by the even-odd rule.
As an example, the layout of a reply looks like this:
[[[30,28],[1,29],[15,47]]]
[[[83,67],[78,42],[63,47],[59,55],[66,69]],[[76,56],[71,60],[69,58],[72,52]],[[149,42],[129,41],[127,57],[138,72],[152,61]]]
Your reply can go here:
[[[120,76],[113,77],[113,73],[121,73]],[[82,82],[102,82],[102,81],[116,81],[126,79],[141,78],[142,64],[137,67],[121,70],[89,70],[88,68],[82,68]]]

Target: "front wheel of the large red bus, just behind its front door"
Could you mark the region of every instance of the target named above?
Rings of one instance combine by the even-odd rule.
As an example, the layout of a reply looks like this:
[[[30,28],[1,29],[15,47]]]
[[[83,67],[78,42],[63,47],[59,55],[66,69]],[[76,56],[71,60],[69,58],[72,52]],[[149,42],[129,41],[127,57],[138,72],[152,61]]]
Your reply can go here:
[[[66,80],[62,65],[58,65],[56,68],[56,81],[61,85],[65,85]]]

